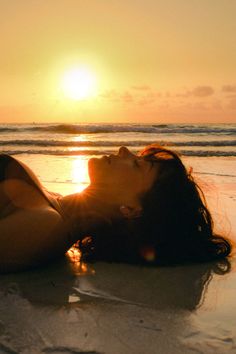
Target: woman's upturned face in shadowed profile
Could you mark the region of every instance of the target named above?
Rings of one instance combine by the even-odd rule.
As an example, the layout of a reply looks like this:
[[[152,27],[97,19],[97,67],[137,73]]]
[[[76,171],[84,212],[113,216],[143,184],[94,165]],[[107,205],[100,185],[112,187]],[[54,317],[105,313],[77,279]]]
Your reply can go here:
[[[121,147],[117,155],[91,158],[88,164],[91,185],[99,186],[108,198],[123,204],[139,199],[152,187],[157,166],[126,147]]]

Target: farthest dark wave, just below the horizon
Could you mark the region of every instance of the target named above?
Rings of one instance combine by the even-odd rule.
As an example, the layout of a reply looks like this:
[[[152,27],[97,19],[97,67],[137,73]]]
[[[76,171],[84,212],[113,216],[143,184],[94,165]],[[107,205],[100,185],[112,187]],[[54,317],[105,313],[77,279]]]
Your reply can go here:
[[[0,133],[45,132],[57,134],[98,133],[157,133],[157,134],[216,134],[235,135],[235,125],[177,125],[177,124],[31,124],[2,125]]]

